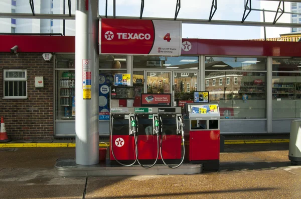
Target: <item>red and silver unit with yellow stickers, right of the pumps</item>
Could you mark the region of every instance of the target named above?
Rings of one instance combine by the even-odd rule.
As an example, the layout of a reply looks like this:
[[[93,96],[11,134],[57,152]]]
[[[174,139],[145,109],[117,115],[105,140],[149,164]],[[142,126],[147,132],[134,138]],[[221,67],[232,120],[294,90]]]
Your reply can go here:
[[[185,162],[204,163],[204,169],[219,169],[220,112],[218,104],[186,103],[184,106]]]

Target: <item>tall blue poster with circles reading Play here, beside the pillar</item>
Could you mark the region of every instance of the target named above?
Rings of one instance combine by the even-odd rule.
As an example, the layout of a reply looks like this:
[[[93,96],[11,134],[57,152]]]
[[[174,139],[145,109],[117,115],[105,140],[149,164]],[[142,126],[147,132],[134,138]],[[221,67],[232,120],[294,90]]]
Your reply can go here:
[[[110,86],[113,82],[111,73],[99,74],[99,120],[110,119]]]

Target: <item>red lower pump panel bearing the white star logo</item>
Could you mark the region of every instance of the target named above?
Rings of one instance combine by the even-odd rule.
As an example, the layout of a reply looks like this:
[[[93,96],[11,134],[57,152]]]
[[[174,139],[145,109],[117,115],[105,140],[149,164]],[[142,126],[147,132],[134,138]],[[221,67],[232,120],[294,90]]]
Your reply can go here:
[[[122,138],[124,140],[124,144],[120,147],[118,147],[115,144],[115,140],[118,138]],[[110,140],[111,140],[111,136],[110,136]],[[134,136],[113,135],[113,143],[110,144],[112,144],[114,155],[117,158],[117,160],[135,159]],[[115,160],[111,150],[110,150],[110,160]]]

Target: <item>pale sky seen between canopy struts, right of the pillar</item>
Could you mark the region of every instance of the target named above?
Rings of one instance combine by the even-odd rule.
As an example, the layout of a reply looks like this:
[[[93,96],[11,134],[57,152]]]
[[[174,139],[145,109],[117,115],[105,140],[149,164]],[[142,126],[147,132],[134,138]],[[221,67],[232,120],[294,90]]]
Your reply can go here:
[[[175,16],[177,0],[144,0],[144,17]],[[116,16],[139,16],[140,0],[116,0]],[[182,0],[178,18],[208,19],[212,0]],[[277,1],[253,0],[252,8],[276,10]],[[290,11],[290,2],[285,2],[285,11]],[[244,0],[217,0],[217,11],[213,20],[241,20]],[[105,15],[105,0],[99,0],[99,13]],[[113,15],[113,2],[108,0],[108,15]],[[265,21],[272,22],[274,12],[265,12]],[[246,21],[263,21],[262,11],[252,10]],[[290,14],[283,14],[279,22],[290,22]],[[182,23],[183,38],[211,39],[255,39],[264,38],[263,27],[238,25],[205,25]],[[290,32],[290,28],[266,27],[266,37],[279,37]]]

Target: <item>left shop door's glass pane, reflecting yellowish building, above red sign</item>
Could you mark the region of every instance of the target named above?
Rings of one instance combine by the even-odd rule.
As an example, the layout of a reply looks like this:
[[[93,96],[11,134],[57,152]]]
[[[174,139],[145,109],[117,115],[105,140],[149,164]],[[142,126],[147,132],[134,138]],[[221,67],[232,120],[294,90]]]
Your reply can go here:
[[[172,93],[171,71],[146,71],[146,93]]]

